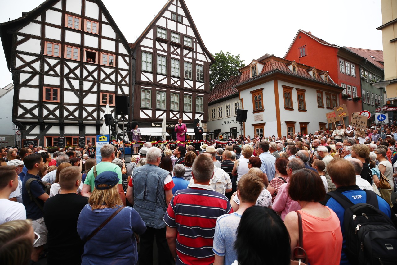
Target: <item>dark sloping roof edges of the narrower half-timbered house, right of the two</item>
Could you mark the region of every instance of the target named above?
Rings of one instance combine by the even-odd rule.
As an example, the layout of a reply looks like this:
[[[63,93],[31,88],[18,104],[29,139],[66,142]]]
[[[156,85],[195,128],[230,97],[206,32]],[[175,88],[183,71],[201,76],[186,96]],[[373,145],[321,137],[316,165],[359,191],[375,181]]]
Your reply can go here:
[[[163,6],[163,8],[160,10],[160,12],[158,12],[158,14],[153,18],[153,20],[149,23],[149,25],[146,27],[146,29],[142,32],[142,34],[138,37],[138,39],[132,44],[133,49],[135,49],[135,47],[137,45],[139,45],[139,43],[142,41],[143,38],[145,38],[146,34],[148,33],[148,31],[150,30],[150,28],[152,27],[152,25],[154,25],[157,20],[160,18],[160,16],[166,11],[166,9],[168,8],[168,6],[170,6],[172,4],[172,2],[174,2],[175,0],[168,0],[168,2]],[[189,19],[189,22],[192,25],[192,30],[195,33],[197,39],[200,41],[200,44],[202,45],[202,49],[204,52],[207,53],[208,57],[211,60],[211,64],[215,62],[214,57],[212,57],[211,53],[207,50],[207,48],[205,47],[200,33],[198,33],[197,27],[195,22],[193,21],[193,18],[189,12],[189,9],[187,9],[186,3],[184,0],[179,0],[179,3],[181,4],[181,7],[183,8],[183,11],[185,12],[185,15],[187,17],[187,19]],[[131,47],[131,45],[130,45]]]

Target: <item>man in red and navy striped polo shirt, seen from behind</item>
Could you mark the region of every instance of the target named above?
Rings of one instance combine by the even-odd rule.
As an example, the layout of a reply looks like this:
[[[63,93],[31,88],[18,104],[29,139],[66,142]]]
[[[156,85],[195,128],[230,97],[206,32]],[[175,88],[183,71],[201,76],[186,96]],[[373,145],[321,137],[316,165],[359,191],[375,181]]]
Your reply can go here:
[[[189,189],[175,193],[164,216],[168,246],[177,264],[214,263],[212,244],[216,220],[232,210],[229,200],[209,185],[213,171],[211,156],[197,156],[192,165],[194,183]],[[206,247],[198,246],[198,242],[206,242]]]

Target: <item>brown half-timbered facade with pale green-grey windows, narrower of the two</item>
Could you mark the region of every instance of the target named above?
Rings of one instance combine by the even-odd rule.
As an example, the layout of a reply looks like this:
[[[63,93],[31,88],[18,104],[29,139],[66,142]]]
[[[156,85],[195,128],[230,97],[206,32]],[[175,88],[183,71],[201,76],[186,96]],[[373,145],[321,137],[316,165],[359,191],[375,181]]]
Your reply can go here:
[[[134,43],[136,83],[134,120],[140,127],[175,124],[192,127],[208,120],[208,52],[183,0],[170,0]],[[173,128],[171,128],[173,129]]]

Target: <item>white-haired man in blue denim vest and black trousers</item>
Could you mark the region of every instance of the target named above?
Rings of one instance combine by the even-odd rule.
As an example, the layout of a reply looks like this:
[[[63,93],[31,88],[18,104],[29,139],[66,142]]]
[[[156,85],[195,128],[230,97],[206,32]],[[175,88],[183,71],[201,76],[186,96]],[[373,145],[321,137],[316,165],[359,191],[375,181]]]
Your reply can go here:
[[[129,202],[146,224],[146,231],[140,236],[139,264],[153,263],[154,236],[159,261],[170,259],[163,217],[172,199],[172,188],[175,184],[170,172],[159,167],[160,160],[160,149],[150,147],[146,153],[146,165],[134,168],[131,176],[133,189],[132,201]]]

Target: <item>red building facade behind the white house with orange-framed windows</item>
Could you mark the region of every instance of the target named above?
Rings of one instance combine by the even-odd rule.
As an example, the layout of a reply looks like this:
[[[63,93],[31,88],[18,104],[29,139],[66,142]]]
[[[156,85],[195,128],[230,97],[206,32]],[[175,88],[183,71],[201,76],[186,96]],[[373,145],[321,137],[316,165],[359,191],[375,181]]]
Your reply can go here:
[[[333,82],[345,88],[342,94],[351,95],[344,99],[340,94],[340,105],[346,104],[349,113],[362,111],[361,99],[354,99],[361,96],[360,57],[299,29],[284,58],[328,71]],[[350,115],[345,117],[345,123],[349,122]]]

